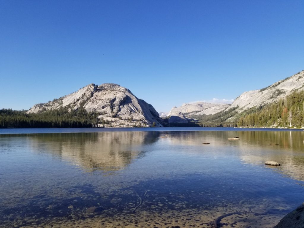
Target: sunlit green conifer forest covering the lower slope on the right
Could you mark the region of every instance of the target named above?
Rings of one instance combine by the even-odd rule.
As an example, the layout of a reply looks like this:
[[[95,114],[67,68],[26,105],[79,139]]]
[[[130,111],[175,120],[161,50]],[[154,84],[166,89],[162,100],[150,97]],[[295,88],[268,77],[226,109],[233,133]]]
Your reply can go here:
[[[295,91],[277,102],[236,112],[233,107],[213,115],[192,116],[202,127],[288,127],[304,126],[304,91]]]

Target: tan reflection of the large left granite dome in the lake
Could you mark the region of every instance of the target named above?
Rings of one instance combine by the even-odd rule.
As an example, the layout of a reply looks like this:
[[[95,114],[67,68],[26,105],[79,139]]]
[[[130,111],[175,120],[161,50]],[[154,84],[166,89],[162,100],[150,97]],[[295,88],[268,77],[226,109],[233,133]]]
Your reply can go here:
[[[159,139],[159,132],[100,132],[39,134],[31,137],[32,150],[52,153],[85,171],[117,171],[142,157]],[[42,149],[43,148],[43,149]]]

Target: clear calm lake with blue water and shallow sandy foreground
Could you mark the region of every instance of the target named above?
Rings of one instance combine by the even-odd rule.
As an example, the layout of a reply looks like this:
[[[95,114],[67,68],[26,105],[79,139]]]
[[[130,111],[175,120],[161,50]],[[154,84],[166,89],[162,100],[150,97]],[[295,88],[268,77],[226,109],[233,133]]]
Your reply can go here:
[[[304,202],[303,140],[302,130],[0,129],[0,227],[273,227]]]

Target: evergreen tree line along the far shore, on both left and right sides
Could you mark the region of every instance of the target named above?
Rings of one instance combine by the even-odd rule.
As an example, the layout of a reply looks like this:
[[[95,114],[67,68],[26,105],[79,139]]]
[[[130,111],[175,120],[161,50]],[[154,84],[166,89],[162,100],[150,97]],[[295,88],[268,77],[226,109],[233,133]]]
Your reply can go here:
[[[213,115],[191,116],[188,123],[168,123],[170,127],[302,127],[304,125],[304,90],[292,92],[278,102],[261,105],[237,113],[234,107]],[[27,114],[25,110],[0,109],[0,128],[32,127],[97,127],[111,124],[98,119],[101,113],[87,112],[82,105],[77,110],[69,105],[60,109]],[[237,118],[236,118],[237,117]],[[133,121],[131,117],[128,119]],[[141,123],[139,124],[141,126]],[[156,123],[153,124],[156,126]]]

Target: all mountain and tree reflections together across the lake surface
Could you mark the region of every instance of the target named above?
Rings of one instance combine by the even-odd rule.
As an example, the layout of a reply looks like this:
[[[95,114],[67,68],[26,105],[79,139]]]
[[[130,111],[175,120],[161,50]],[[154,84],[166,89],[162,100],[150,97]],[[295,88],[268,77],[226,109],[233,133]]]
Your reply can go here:
[[[240,140],[228,140],[229,137],[236,136]],[[36,153],[51,153],[88,172],[125,168],[133,159],[145,156],[151,150],[152,144],[160,141],[161,144],[172,146],[200,146],[202,150],[238,147],[237,155],[241,161],[264,166],[265,161],[274,160],[282,164],[276,167],[277,170],[294,179],[304,180],[304,132],[299,131],[134,131],[52,133],[26,137],[30,139],[31,150]],[[203,145],[204,142],[210,144]],[[271,143],[278,145],[270,145]],[[209,150],[211,152],[219,155],[218,150]],[[225,151],[221,151],[223,153]]]

